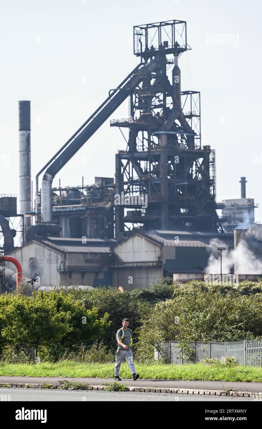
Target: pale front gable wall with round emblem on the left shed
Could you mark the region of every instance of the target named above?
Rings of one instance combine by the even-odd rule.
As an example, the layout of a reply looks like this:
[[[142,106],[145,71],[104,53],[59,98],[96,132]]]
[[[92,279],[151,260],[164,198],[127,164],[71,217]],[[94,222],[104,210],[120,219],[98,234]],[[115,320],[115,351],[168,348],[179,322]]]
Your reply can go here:
[[[9,256],[16,258],[21,263],[25,277],[36,278],[39,276],[42,285],[59,286],[60,274],[57,272],[57,267],[63,261],[63,254],[32,241],[10,253]],[[8,268],[15,270],[12,263],[8,263]]]

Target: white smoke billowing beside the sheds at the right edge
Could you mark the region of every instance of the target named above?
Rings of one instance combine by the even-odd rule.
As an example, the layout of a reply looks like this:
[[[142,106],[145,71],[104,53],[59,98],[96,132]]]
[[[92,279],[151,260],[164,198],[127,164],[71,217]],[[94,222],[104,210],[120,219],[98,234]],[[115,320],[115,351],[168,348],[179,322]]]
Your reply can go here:
[[[208,252],[208,265],[205,268],[205,273],[219,274],[220,273],[220,251],[217,247],[226,247],[225,244],[218,240],[210,241]],[[234,249],[222,251],[222,273],[229,274],[234,272],[234,266],[238,267],[235,274],[262,274],[262,260],[256,258],[253,252],[248,248],[247,242],[241,240],[238,243],[236,250]]]

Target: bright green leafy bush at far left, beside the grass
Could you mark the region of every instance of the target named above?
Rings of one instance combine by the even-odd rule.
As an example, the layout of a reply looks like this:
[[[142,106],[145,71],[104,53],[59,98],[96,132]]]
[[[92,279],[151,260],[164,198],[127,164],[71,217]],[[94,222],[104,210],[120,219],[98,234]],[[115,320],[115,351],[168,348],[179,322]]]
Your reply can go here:
[[[34,292],[0,296],[0,347],[29,344],[42,347],[57,359],[64,351],[74,351],[83,341],[94,341],[109,326],[108,313],[84,308],[80,301],[63,291]],[[50,357],[50,356],[49,356]]]

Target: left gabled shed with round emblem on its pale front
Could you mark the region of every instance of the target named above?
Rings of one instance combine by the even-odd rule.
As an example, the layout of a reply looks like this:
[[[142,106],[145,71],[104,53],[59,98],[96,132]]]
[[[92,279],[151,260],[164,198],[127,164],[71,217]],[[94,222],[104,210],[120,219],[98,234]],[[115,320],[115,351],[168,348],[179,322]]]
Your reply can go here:
[[[20,261],[25,277],[39,277],[41,285],[109,286],[108,263],[114,240],[50,237],[34,239],[15,249],[9,256]],[[9,268],[13,268],[9,264]]]

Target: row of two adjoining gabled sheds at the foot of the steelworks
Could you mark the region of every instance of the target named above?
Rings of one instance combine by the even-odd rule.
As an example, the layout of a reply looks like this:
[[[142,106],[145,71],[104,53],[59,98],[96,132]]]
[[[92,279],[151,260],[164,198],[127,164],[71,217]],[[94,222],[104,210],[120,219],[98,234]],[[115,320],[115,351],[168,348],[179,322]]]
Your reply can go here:
[[[21,263],[23,275],[39,276],[40,284],[58,286],[114,286],[132,290],[148,287],[158,278],[178,273],[202,273],[208,262],[208,245],[219,233],[135,230],[114,239],[33,239],[9,256]],[[233,234],[224,244],[234,247]],[[9,268],[12,268],[9,265]]]

